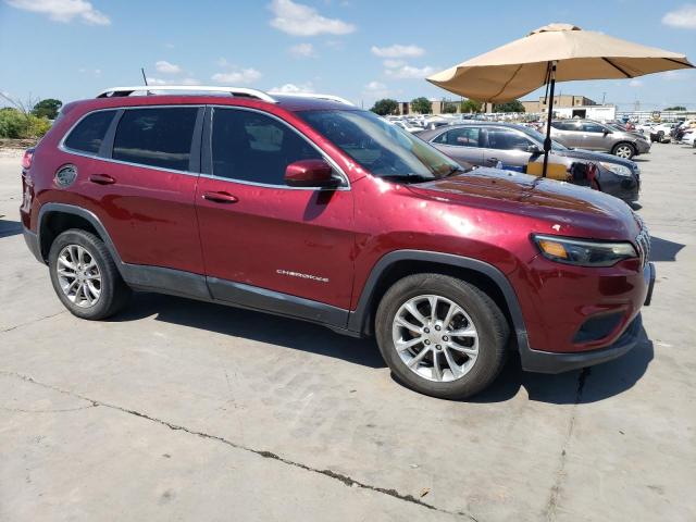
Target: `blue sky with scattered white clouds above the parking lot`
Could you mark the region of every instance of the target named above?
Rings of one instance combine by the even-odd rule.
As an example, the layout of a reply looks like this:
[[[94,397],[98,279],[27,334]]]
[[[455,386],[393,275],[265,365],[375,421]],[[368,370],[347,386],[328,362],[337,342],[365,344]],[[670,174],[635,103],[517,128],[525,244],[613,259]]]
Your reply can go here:
[[[450,98],[423,77],[551,22],[696,62],[696,3],[683,1],[0,0],[0,91],[89,98],[140,84],[144,66],[151,82],[300,89],[365,108]],[[696,71],[557,89],[620,109],[696,109]]]

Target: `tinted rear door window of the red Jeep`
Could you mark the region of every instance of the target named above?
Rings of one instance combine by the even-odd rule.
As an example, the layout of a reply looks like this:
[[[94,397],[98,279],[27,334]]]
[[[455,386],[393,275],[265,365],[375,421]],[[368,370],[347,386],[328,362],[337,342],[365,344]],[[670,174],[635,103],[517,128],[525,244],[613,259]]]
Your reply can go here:
[[[188,170],[198,108],[133,109],[123,113],[113,142],[114,160]]]

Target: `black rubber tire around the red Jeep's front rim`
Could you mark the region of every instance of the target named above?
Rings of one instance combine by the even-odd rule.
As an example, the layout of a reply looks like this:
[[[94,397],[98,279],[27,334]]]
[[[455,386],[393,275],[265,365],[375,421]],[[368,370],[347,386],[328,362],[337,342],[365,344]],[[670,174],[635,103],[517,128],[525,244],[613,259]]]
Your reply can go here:
[[[423,295],[442,296],[461,307],[478,333],[478,356],[473,366],[453,381],[436,382],[417,374],[396,349],[391,335],[395,316],[409,299]],[[382,298],[375,334],[382,357],[400,383],[433,397],[463,399],[486,388],[502,369],[510,327],[494,300],[476,286],[442,274],[414,274],[396,282]]]

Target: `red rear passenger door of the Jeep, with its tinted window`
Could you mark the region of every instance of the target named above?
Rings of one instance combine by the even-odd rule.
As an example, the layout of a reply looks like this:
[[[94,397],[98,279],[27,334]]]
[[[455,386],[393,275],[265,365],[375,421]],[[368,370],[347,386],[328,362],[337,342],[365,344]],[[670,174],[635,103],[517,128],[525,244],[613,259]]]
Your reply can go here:
[[[124,262],[202,274],[194,204],[202,115],[199,107],[122,109],[102,142],[91,141],[99,151],[83,163],[80,204],[100,217]]]

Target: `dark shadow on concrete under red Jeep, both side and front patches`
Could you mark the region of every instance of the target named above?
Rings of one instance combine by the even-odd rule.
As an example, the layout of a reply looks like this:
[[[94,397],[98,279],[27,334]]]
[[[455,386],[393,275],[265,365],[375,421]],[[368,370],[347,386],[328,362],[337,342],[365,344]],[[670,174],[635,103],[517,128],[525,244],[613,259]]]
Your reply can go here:
[[[366,368],[386,368],[374,339],[356,339],[303,321],[160,294],[136,293],[126,311],[108,321],[136,321],[152,315],[157,321],[270,343]],[[631,352],[583,371],[558,375],[527,373],[522,371],[519,357],[513,355],[493,385],[465,401],[505,402],[524,388],[529,399],[534,401],[555,405],[595,402],[630,389],[645,374],[652,356],[652,343],[645,330],[641,331],[638,344]],[[394,374],[391,377],[395,378]]]

